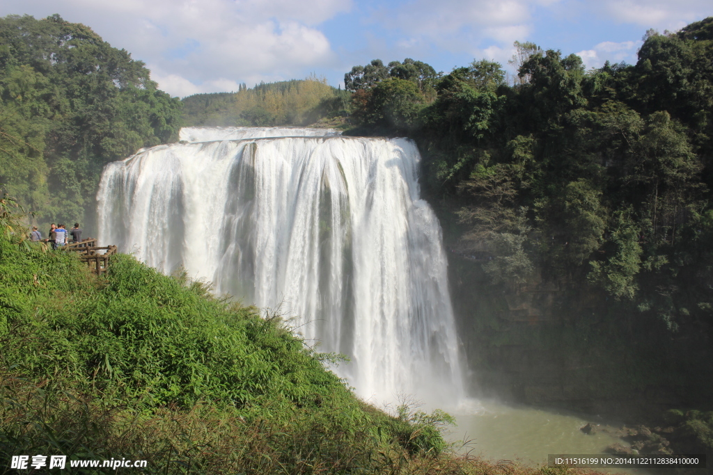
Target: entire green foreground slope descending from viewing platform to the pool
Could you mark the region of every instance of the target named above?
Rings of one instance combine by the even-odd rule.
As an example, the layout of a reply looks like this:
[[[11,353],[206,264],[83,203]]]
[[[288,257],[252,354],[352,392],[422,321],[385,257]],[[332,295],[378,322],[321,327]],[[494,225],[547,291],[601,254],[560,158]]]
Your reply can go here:
[[[442,413],[401,408],[389,417],[358,400],[279,318],[130,256],[98,278],[70,254],[19,245],[4,232],[8,222],[0,222],[0,474],[14,473],[18,454],[146,459],[145,473],[156,474],[497,469],[443,450]],[[515,473],[564,473],[553,470]]]

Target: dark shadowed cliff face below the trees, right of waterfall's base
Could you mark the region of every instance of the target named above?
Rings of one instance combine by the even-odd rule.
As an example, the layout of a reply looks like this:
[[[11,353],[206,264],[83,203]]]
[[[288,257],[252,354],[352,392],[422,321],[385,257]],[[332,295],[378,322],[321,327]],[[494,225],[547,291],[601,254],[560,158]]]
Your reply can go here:
[[[565,279],[492,286],[482,261],[449,253],[472,394],[625,418],[708,404],[710,349]]]

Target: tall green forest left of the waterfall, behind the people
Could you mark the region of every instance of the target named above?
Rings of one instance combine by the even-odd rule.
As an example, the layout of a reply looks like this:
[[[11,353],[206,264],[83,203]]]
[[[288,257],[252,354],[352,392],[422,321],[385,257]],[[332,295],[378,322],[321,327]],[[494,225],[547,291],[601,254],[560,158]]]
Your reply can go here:
[[[0,184],[41,223],[91,219],[103,166],[178,137],[141,61],[58,15],[0,19]]]

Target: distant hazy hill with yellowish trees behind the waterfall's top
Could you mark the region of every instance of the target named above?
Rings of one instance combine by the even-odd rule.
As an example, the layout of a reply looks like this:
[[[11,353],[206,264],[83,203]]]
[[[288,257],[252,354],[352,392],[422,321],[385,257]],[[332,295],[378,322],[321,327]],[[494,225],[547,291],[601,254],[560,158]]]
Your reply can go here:
[[[339,115],[349,95],[311,76],[260,83],[237,93],[196,94],[183,99],[183,122],[195,125],[310,125]]]

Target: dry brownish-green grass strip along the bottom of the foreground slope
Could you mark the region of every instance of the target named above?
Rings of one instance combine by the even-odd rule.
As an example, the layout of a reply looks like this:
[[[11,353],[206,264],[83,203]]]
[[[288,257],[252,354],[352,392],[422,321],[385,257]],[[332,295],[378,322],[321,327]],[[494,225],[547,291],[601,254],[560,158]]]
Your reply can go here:
[[[289,419],[247,420],[237,409],[199,403],[188,410],[160,407],[136,412],[127,402],[78,398],[41,390],[0,373],[0,459],[18,454],[66,455],[70,460],[146,460],[143,474],[353,474],[353,475],[594,475],[566,467],[529,468],[497,464],[448,451],[418,447],[434,427],[420,430],[373,407],[294,411]],[[389,432],[389,424],[404,432]],[[410,427],[410,429],[409,429]],[[437,437],[437,436],[436,436]],[[438,437],[438,440],[443,442]],[[425,447],[424,447],[425,449]],[[68,474],[106,470],[71,469]],[[0,474],[14,473],[0,464]],[[53,473],[49,471],[48,473]]]

